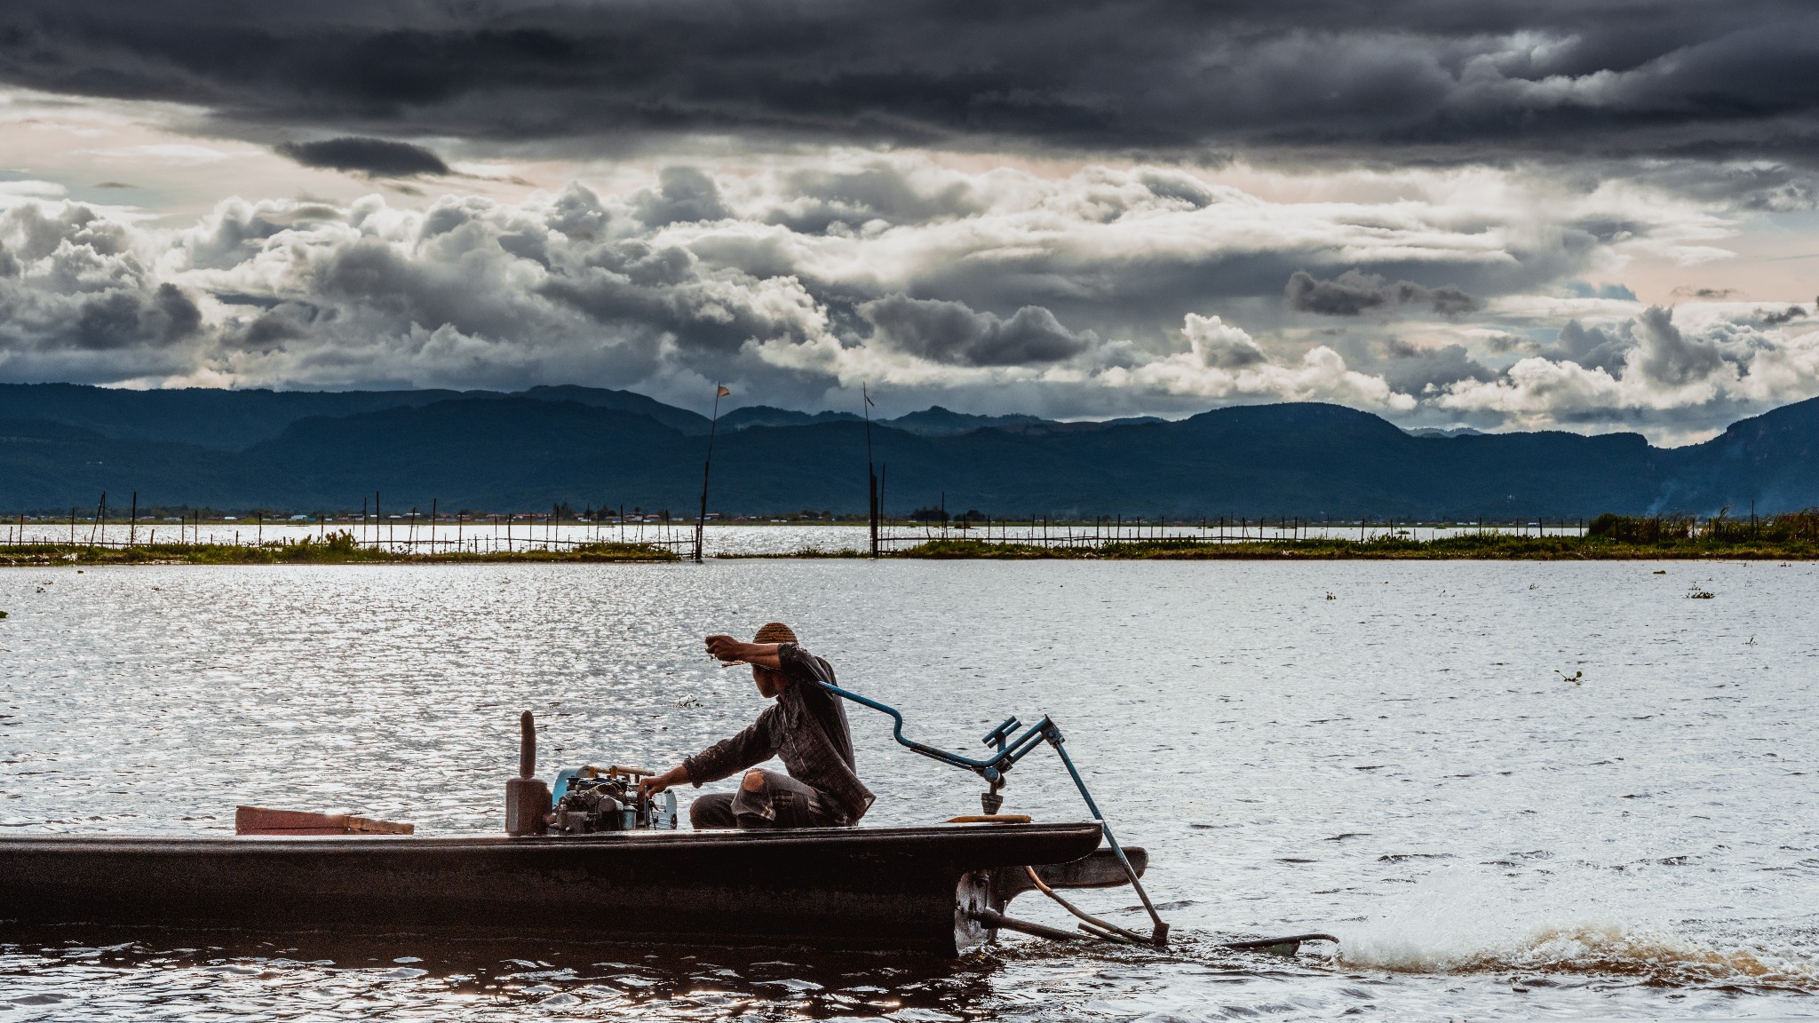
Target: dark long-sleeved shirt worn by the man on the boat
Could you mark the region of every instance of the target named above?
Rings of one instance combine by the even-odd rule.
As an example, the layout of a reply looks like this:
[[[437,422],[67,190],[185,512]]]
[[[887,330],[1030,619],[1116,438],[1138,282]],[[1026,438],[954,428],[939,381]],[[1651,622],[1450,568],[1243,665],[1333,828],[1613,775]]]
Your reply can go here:
[[[777,659],[789,688],[749,728],[682,761],[688,779],[700,788],[780,757],[789,777],[820,792],[840,825],[851,825],[877,797],[859,781],[840,697],[815,684],[839,684],[833,668],[795,643],[779,643]]]

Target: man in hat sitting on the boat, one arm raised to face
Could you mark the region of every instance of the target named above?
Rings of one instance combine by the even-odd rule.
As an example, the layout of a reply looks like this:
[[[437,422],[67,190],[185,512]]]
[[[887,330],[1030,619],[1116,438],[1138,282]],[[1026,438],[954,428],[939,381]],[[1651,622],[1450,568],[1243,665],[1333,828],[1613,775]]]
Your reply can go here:
[[[846,708],[817,684],[837,684],[833,668],[797,646],[795,632],[782,623],[766,624],[751,643],[709,635],[708,653],[751,664],[759,694],[777,703],[739,735],[646,777],[638,788],[651,794],[684,781],[700,788],[744,770],[737,794],[709,794],[689,805],[695,828],[835,828],[864,817],[873,795],[853,766]],[[748,770],[773,755],[789,774]]]

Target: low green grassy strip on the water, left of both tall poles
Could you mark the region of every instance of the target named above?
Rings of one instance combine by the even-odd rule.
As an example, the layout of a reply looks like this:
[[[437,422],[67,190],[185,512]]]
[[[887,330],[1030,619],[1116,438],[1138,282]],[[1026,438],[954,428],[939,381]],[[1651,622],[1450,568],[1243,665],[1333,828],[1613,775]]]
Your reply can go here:
[[[349,533],[282,544],[85,544],[0,546],[7,564],[486,564],[486,562],[680,561],[655,544],[577,544],[564,550],[400,553],[360,546]]]

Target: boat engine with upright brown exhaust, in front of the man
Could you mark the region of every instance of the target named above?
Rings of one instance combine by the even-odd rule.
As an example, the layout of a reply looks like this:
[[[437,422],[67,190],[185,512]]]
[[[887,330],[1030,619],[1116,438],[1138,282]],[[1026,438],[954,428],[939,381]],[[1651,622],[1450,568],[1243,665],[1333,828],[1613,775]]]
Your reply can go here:
[[[591,836],[597,832],[675,830],[677,795],[638,794],[653,772],[613,765],[557,772],[555,790],[537,775],[537,721],[518,719],[518,777],[506,781],[506,834]]]

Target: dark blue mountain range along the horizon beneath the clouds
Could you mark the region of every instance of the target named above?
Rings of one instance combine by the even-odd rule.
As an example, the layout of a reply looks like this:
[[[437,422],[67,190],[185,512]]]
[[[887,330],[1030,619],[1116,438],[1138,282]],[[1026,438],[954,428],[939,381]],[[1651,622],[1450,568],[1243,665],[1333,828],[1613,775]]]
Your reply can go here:
[[[578,386],[498,391],[122,391],[0,384],[0,512],[526,512],[698,506],[709,419]],[[1184,420],[1055,422],[930,408],[871,422],[891,515],[1533,519],[1759,513],[1819,504],[1819,399],[1686,448],[1637,433],[1415,435],[1332,404]],[[866,510],[866,424],[746,406],[720,415],[709,508]]]

